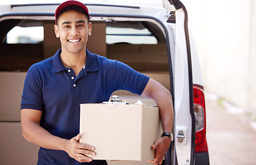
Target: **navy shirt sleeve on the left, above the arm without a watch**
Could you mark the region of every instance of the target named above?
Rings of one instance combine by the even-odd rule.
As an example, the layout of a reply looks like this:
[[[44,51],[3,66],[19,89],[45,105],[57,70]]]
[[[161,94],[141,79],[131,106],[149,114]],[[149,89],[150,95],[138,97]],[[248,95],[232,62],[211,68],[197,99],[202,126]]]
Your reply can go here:
[[[42,80],[36,72],[35,67],[30,67],[25,77],[23,94],[21,98],[21,109],[35,109],[43,111]]]

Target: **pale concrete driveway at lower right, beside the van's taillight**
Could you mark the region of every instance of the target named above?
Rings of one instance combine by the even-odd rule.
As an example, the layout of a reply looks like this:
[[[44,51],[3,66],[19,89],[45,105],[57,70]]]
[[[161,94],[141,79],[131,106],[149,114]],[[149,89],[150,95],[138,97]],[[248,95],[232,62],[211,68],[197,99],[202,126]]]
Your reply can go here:
[[[210,164],[256,165],[256,131],[250,116],[223,103],[206,97]]]

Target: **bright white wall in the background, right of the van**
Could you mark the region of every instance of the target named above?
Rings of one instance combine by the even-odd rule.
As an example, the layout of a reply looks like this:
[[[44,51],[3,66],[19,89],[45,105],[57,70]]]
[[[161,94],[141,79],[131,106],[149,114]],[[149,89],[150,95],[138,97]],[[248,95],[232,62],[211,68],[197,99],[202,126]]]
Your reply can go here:
[[[256,1],[181,0],[206,91],[256,113]]]

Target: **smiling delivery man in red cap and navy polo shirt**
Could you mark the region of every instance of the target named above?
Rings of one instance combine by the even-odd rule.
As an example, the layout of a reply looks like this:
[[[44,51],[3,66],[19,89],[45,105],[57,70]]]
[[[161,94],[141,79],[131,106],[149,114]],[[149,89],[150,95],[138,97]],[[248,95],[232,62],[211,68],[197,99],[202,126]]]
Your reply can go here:
[[[83,3],[61,3],[55,21],[61,50],[30,67],[21,101],[23,136],[41,146],[37,164],[107,164],[89,156],[96,154],[94,146],[79,143],[79,104],[107,101],[119,89],[155,100],[163,131],[171,133],[173,107],[167,89],[123,63],[86,49],[92,23]],[[161,164],[170,144],[167,136],[156,140],[152,145],[156,157],[150,162]]]

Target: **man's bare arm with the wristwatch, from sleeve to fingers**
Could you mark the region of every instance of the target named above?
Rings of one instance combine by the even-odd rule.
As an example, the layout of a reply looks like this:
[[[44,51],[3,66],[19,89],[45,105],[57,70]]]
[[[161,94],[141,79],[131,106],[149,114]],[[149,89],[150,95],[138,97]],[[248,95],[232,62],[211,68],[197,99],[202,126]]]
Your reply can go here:
[[[171,133],[173,129],[173,102],[169,90],[150,78],[141,96],[155,100],[160,109],[162,131]],[[152,146],[152,148],[156,150],[156,156],[154,160],[149,162],[162,164],[162,160],[170,144],[171,140],[169,137],[160,137],[156,140]]]

